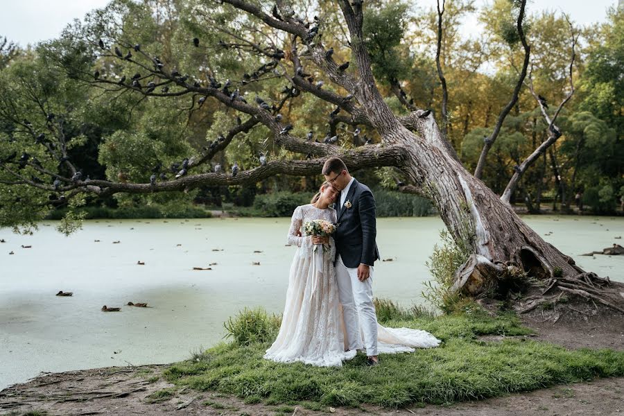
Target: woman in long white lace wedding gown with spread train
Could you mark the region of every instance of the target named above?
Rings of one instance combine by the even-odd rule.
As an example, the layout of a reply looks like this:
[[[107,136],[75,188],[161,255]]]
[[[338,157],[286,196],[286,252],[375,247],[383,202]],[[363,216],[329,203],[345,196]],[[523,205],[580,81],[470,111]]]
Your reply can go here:
[[[288,230],[288,243],[297,245],[286,292],[286,306],[277,339],[264,358],[279,363],[302,363],[322,367],[341,366],[356,350],[345,351],[345,324],[338,300],[336,244],[333,238],[301,236],[302,225],[311,220],[336,223],[336,210],[329,207],[338,196],[324,182],[308,205],[295,209]],[[323,244],[329,250],[314,250]],[[437,347],[431,333],[408,328],[377,326],[379,352],[413,352],[415,347]]]

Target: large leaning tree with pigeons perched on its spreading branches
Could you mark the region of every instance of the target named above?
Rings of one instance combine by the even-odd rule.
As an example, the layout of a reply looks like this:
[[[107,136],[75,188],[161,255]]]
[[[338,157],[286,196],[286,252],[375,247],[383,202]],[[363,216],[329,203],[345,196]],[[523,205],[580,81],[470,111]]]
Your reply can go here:
[[[392,36],[380,37],[378,31],[365,31],[365,16],[383,16],[381,6],[358,0],[310,7],[286,1],[247,0],[168,4],[172,7],[168,14],[176,16],[171,21],[187,27],[187,31],[176,32],[178,36],[187,36],[182,42],[163,40],[162,28],[153,24],[149,9],[130,1],[117,1],[108,11],[125,10],[125,15],[132,19],[120,22],[114,14],[100,15],[96,24],[68,33],[51,57],[70,78],[101,88],[105,94],[162,100],[186,97],[191,118],[193,111],[201,110],[209,102],[216,103],[226,109],[226,118],[236,117],[236,122],[182,163],[167,166],[162,163],[166,161],[150,159],[144,153],[148,145],[128,146],[125,152],[144,155],[143,167],[135,169],[137,174],[130,177],[118,173],[116,178],[108,175],[107,179],[85,180],[68,157],[67,141],[61,130],[51,130],[57,143],[51,144],[40,137],[37,126],[14,117],[23,137],[30,137],[31,153],[39,152],[40,159],[46,155],[49,166],[33,161],[31,153],[14,151],[15,154],[2,159],[1,183],[5,189],[35,189],[66,198],[85,193],[110,196],[188,191],[202,185],[254,183],[278,174],[314,175],[320,172],[327,157],[338,155],[352,169],[392,166],[408,182],[401,190],[433,201],[453,238],[474,253],[458,272],[458,287],[463,290],[478,293],[496,284],[501,276],[518,277],[524,270],[551,279],[549,290],[555,286],[562,293],[592,298],[624,311],[618,306],[621,299],[612,297],[605,289],[608,281],[584,272],[571,257],[541,239],[506,200],[501,200],[462,166],[431,110],[418,109],[402,92],[398,76],[407,76],[407,71],[395,67],[395,75],[386,80],[390,88],[378,85],[374,68],[381,62],[380,54],[390,54],[391,59],[391,48],[399,43]],[[517,101],[528,67],[529,47],[523,33],[526,1],[516,1],[514,6],[513,27],[524,46],[524,59],[512,98],[501,110],[495,131],[501,130],[505,116]],[[443,13],[444,3],[438,8],[438,39],[442,35]],[[391,15],[385,16],[386,20],[390,18]],[[148,30],[137,31],[137,26],[148,24]],[[401,22],[395,24],[400,26]],[[379,20],[373,27],[379,28]],[[390,49],[384,49],[383,42]],[[437,43],[439,56],[442,42]],[[441,69],[438,64],[443,79]],[[397,115],[388,105],[384,89],[402,98],[410,112]],[[321,141],[314,139],[318,137],[318,128],[289,123],[289,119],[294,119],[293,103],[303,95],[314,98],[309,112],[333,109],[327,116],[327,135]],[[549,137],[554,141],[561,135],[554,125],[556,117],[551,120],[544,103],[539,105]],[[40,107],[45,112],[45,105]],[[305,115],[299,120],[305,120]],[[376,144],[372,137],[363,139],[358,127],[374,135]],[[232,146],[241,133],[252,129],[266,134],[266,140],[275,149],[272,155],[259,159],[255,167],[247,161],[231,170],[230,166],[227,170],[223,166],[223,171],[214,171],[215,155]],[[308,130],[313,130],[310,136],[306,135]],[[486,140],[487,150],[497,134]],[[344,143],[347,135],[349,144],[338,146],[337,142]],[[105,146],[112,144],[114,150],[115,146],[124,146],[125,141],[137,143],[131,137],[121,137]],[[19,141],[13,147],[17,149],[18,144]],[[487,157],[487,150],[482,157]],[[53,164],[60,168],[53,168]],[[31,172],[46,175],[50,180],[32,180]],[[145,182],[141,183],[141,178]]]

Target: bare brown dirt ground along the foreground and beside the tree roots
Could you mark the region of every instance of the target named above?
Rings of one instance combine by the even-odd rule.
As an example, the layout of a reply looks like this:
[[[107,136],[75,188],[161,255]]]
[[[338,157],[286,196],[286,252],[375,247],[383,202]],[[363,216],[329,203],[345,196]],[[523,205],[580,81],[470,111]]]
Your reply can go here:
[[[567,348],[624,349],[624,322],[575,320],[575,324],[540,322],[524,318],[536,329],[532,339],[559,343]],[[499,340],[500,337],[483,337]],[[190,389],[162,390],[173,384],[162,379],[166,365],[109,367],[58,374],[43,374],[28,383],[12,385],[0,392],[0,415],[23,415],[31,410],[48,415],[318,415],[301,406],[246,405],[236,397]],[[157,396],[154,395],[156,392]],[[322,413],[331,413],[324,408]],[[336,408],[334,414],[354,415],[445,415],[445,416],[536,416],[536,415],[624,415],[624,378],[597,379],[591,383],[560,385],[535,392],[498,397],[449,406],[425,406],[390,410],[365,406]]]

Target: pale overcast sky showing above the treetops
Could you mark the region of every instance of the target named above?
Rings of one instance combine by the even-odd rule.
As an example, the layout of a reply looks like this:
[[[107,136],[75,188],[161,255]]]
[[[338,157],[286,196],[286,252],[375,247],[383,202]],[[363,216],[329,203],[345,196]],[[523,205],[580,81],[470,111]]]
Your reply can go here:
[[[604,21],[607,7],[617,0],[529,0],[530,12],[555,10],[571,15],[573,21],[589,25]],[[21,46],[57,37],[73,19],[82,19],[86,12],[101,8],[108,0],[0,0],[0,35]],[[476,0],[478,6],[487,3]],[[435,6],[435,0],[419,0],[419,6]],[[462,28],[465,34],[478,31],[476,19],[467,19]]]

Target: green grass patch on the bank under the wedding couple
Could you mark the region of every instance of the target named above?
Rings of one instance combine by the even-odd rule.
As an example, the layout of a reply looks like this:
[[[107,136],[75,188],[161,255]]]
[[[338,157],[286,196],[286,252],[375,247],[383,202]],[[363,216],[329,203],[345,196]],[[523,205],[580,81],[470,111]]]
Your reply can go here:
[[[378,303],[379,305],[379,303]],[[365,367],[359,355],[342,368],[301,363],[279,364],[262,358],[277,323],[263,311],[244,311],[228,322],[234,339],[196,354],[166,370],[168,381],[197,390],[241,397],[247,403],[358,406],[442,404],[535,390],[597,376],[623,376],[624,352],[608,349],[568,351],[532,340],[483,342],[479,335],[530,333],[515,315],[490,316],[476,305],[465,312],[434,317],[385,302],[378,311],[389,327],[430,331],[444,343],[413,354],[382,355],[378,367]],[[264,321],[261,333],[250,322]],[[271,323],[272,322],[272,323]]]

